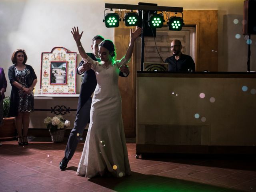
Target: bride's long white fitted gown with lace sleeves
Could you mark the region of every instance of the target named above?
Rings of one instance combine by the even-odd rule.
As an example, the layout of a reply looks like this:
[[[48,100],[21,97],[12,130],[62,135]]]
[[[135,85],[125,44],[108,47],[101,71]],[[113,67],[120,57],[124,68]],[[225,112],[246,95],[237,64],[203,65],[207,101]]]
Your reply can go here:
[[[77,174],[92,178],[111,173],[122,177],[131,174],[122,121],[122,103],[118,88],[119,66],[128,63],[122,58],[107,68],[92,60],[97,86],[92,98],[90,125]]]

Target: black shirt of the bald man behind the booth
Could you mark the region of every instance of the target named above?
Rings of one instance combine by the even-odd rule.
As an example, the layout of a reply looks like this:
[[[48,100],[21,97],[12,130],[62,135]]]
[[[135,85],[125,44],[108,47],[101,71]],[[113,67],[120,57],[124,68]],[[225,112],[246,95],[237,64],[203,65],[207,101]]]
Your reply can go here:
[[[168,71],[195,72],[196,65],[189,55],[181,54],[178,60],[174,56],[168,57],[165,63],[169,63]]]

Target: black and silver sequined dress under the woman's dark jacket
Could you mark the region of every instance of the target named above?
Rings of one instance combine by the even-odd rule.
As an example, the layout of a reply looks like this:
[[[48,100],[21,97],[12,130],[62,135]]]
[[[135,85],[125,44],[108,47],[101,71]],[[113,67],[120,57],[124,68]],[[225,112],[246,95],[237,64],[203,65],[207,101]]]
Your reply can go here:
[[[28,88],[26,84],[26,79],[30,74],[30,70],[25,68],[20,71],[15,67],[15,78],[22,86]],[[18,90],[18,112],[33,112],[34,111],[34,94],[31,92],[30,94],[26,94],[22,90]]]

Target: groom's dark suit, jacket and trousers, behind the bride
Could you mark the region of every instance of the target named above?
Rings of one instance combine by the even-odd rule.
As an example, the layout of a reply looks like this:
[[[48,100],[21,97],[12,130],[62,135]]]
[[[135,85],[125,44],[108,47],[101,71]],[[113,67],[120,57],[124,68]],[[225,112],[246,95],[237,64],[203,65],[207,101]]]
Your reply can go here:
[[[95,61],[100,61],[97,59],[94,54],[87,53],[90,58]],[[84,61],[81,61],[76,69],[76,73],[78,73],[78,68],[82,66]],[[119,76],[125,77],[122,72],[119,73]],[[90,120],[90,109],[92,104],[91,95],[94,92],[97,85],[96,75],[94,70],[90,69],[85,72],[84,78],[82,81],[80,95],[78,98],[78,105],[76,110],[76,120],[74,122],[74,128],[70,132],[70,136],[68,138],[68,143],[65,150],[65,157],[69,161],[78,145],[78,142],[84,132],[84,128]]]

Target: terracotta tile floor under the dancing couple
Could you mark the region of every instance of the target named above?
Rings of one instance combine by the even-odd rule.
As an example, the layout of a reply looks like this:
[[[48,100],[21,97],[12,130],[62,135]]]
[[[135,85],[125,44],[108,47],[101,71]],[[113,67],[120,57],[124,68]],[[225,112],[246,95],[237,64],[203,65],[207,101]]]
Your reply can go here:
[[[127,143],[132,176],[88,180],[76,175],[83,142],[68,168],[59,169],[65,144],[31,138],[24,147],[2,142],[0,192],[256,192],[253,157],[136,159],[136,144]]]

